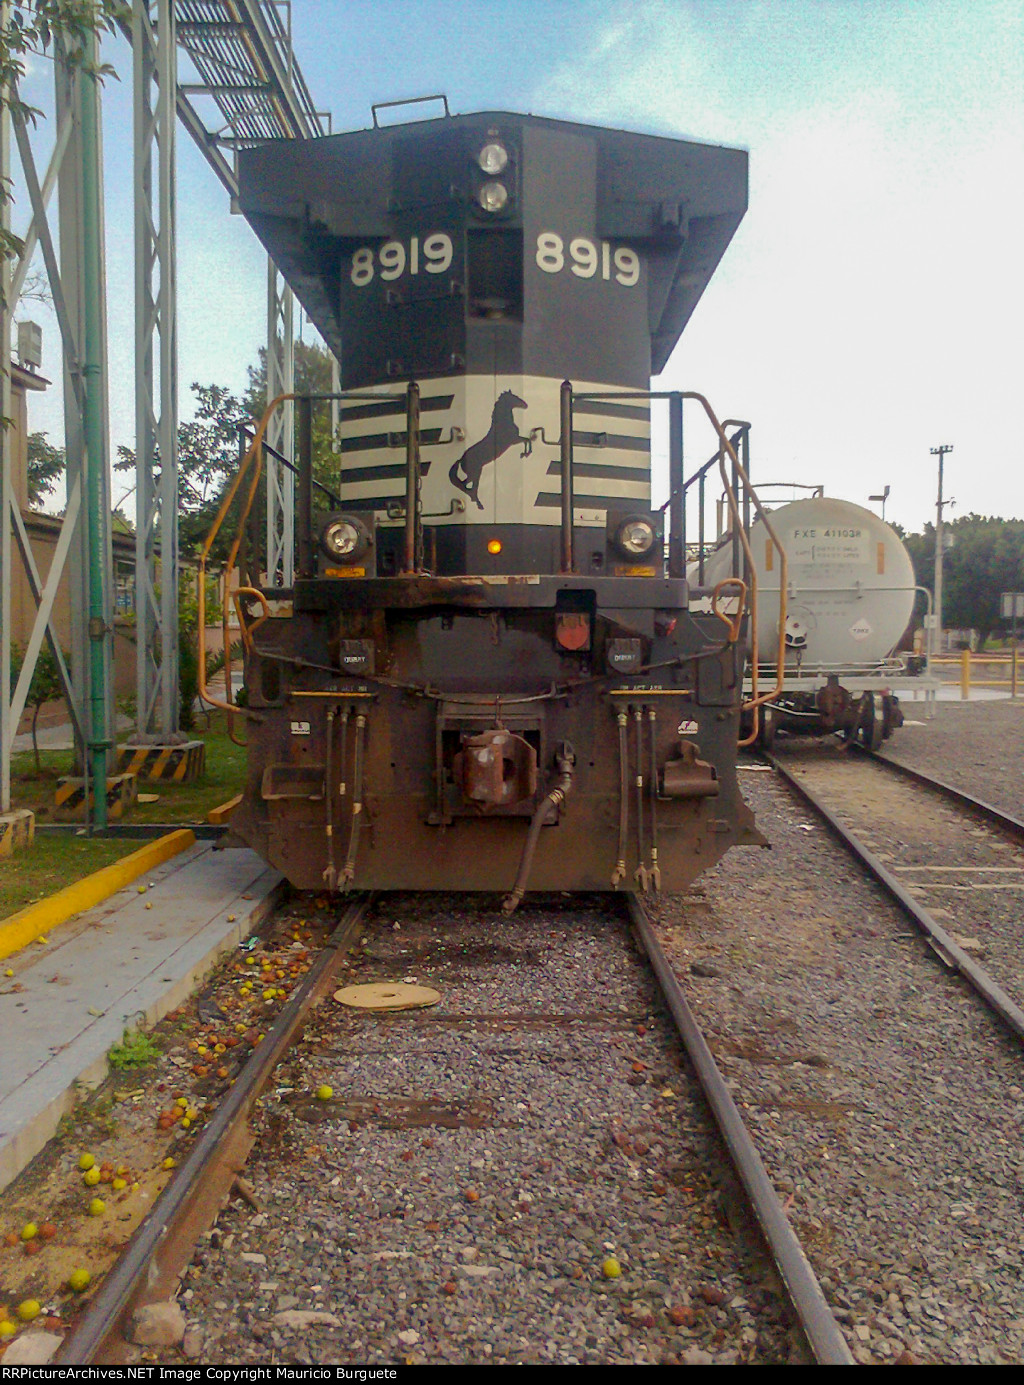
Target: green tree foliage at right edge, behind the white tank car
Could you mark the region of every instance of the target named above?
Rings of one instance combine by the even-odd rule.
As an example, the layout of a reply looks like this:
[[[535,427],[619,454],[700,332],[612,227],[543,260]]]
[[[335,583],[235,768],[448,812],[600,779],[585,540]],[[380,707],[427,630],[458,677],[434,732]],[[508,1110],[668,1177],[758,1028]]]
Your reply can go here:
[[[999,614],[1003,591],[1024,591],[1024,521],[962,515],[944,525],[942,625],[977,630],[984,641],[1007,627]],[[903,543],[920,586],[934,591],[935,528]]]

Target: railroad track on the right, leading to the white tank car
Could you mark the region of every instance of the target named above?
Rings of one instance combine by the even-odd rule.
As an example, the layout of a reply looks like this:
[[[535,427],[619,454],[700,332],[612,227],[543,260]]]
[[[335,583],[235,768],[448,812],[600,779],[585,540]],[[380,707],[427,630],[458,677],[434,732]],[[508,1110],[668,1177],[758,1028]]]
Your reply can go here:
[[[1024,823],[880,755],[823,742],[768,759],[1024,1040]]]

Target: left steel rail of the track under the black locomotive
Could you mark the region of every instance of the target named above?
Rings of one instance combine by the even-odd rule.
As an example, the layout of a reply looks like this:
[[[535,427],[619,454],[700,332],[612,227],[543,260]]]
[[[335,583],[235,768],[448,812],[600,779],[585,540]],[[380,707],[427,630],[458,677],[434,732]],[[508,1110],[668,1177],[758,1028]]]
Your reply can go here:
[[[157,1198],[150,1213],[136,1227],[96,1298],[61,1343],[55,1357],[57,1364],[87,1366],[101,1361],[108,1350],[115,1349],[118,1327],[139,1305],[141,1295],[155,1278],[155,1271],[164,1270],[164,1266],[158,1266],[161,1251],[168,1244],[173,1245],[176,1230],[183,1226],[200,1201],[211,1165],[222,1152],[222,1147],[230,1147],[230,1136],[248,1119],[263,1083],[305,1022],[313,1001],[331,981],[345,947],[371,903],[373,896],[366,895],[348,906],[299,990],[281,1010],[263,1042],[252,1051],[234,1086],[204,1126],[187,1159]]]

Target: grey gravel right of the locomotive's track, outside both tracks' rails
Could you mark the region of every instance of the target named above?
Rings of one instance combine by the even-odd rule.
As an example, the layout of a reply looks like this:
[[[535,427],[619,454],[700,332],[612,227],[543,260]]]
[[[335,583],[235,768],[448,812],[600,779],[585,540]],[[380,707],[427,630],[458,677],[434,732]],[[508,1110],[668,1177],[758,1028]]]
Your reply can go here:
[[[1018,810],[1020,715],[939,705],[890,753]],[[743,787],[772,849],[665,902],[662,935],[855,1356],[1020,1361],[1020,1044],[809,807],[755,765]]]

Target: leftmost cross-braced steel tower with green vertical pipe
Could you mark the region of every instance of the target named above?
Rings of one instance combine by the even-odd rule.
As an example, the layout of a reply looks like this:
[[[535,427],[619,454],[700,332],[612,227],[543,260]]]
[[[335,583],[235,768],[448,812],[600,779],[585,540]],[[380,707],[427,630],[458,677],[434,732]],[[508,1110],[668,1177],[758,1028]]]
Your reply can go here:
[[[0,19],[8,22],[7,6]],[[11,438],[0,429],[0,812],[11,806],[11,749],[25,709],[36,659],[46,641],[54,655],[71,712],[86,781],[104,785],[96,796],[97,825],[105,825],[107,751],[111,744],[111,540],[107,435],[107,341],[103,288],[103,166],[98,87],[93,73],[64,60],[60,33],[54,44],[57,129],[48,166],[40,180],[29,127],[7,93],[0,112],[0,177],[10,176],[10,133],[18,148],[32,220],[11,273],[3,270],[0,303],[0,388],[3,417],[10,417],[11,323],[36,248],[46,265],[50,295],[61,331],[65,379],[65,454],[68,499],[60,542],[46,580],[32,554],[11,475]],[[60,259],[48,223],[48,202],[58,190]],[[7,227],[8,205],[4,205]],[[36,616],[11,690],[11,587],[14,542],[36,602]],[[72,666],[68,669],[53,607],[65,571],[72,594]],[[86,795],[86,802],[89,796]]]

